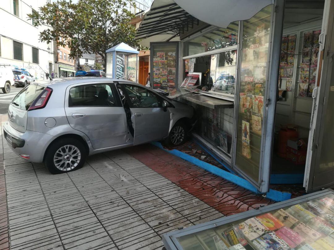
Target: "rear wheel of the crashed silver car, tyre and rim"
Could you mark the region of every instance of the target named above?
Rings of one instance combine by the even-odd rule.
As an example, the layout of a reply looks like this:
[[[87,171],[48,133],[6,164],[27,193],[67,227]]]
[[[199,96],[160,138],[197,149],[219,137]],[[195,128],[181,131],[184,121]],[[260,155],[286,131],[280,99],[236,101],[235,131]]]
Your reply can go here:
[[[44,165],[52,174],[59,174],[81,168],[85,160],[85,146],[75,138],[63,138],[48,148]]]

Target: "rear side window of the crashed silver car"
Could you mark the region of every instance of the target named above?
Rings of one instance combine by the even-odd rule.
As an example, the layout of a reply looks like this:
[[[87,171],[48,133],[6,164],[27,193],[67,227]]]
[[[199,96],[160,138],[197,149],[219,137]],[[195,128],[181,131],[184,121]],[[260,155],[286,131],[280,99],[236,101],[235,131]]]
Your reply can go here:
[[[89,84],[70,88],[68,106],[116,107],[113,90],[109,84]]]

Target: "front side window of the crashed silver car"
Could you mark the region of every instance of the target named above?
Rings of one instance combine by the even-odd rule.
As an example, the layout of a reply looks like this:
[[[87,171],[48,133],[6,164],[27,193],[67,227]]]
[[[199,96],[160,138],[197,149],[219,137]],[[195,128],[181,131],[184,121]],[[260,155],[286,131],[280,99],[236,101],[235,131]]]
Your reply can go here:
[[[124,84],[125,90],[135,108],[162,107],[161,98],[152,91],[136,85]]]

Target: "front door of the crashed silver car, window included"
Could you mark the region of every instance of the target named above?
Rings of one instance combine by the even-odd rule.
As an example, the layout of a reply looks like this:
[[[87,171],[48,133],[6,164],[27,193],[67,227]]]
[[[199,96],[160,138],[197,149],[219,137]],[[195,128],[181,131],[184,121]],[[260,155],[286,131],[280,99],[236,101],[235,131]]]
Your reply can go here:
[[[170,112],[162,107],[162,98],[138,84],[121,83],[131,110],[134,144],[161,140],[168,136]]]

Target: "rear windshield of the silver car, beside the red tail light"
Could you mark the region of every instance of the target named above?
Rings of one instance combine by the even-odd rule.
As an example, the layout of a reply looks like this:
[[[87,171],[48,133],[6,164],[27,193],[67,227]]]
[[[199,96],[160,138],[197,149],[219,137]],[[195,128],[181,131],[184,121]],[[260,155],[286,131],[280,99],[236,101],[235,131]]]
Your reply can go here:
[[[30,84],[15,96],[11,105],[18,109],[28,110],[33,101],[43,91],[44,87]]]

